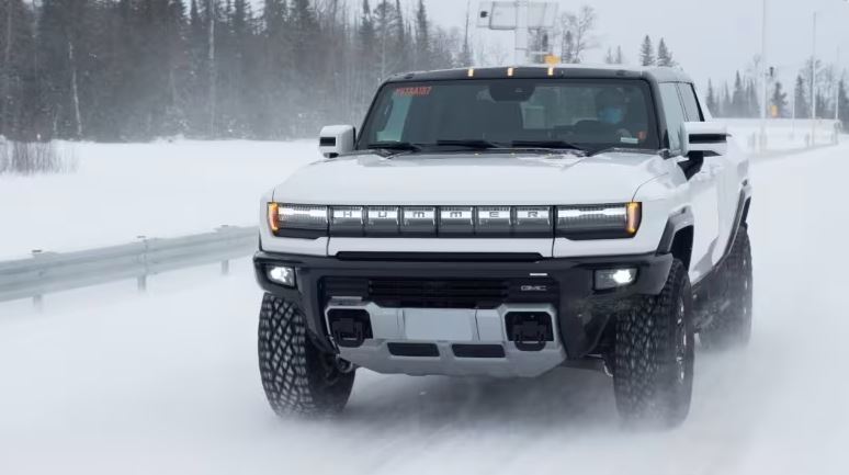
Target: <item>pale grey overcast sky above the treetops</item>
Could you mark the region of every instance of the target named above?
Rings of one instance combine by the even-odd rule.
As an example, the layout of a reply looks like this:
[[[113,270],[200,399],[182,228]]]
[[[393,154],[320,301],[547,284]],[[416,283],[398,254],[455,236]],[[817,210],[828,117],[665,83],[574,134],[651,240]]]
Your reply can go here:
[[[262,0],[253,0],[262,3]],[[344,0],[360,8],[362,0]],[[371,0],[374,4],[378,0]],[[591,4],[599,15],[600,47],[586,60],[600,63],[608,46],[622,45],[631,64],[637,60],[643,36],[655,42],[666,38],[675,58],[702,86],[708,78],[724,80],[744,69],[760,53],[762,0],[554,0],[559,11]],[[412,9],[417,0],[401,0]],[[844,54],[841,65],[849,66],[849,2],[846,0],[767,0],[769,21],[768,63],[778,68],[780,78],[792,81],[812,54],[813,13],[819,12],[818,55],[834,63],[837,47]],[[471,1],[474,15],[477,0]],[[432,20],[445,26],[462,27],[466,0],[426,0]],[[512,33],[475,31],[475,44],[485,49],[502,48],[502,57],[512,60]],[[491,56],[491,55],[490,55]]]

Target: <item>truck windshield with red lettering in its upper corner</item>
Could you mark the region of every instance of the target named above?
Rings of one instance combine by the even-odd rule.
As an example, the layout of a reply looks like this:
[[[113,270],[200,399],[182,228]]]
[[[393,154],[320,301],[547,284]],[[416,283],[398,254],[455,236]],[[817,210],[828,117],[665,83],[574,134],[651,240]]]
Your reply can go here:
[[[475,79],[390,83],[359,149],[428,146],[657,149],[643,80]],[[410,149],[410,148],[408,148]]]

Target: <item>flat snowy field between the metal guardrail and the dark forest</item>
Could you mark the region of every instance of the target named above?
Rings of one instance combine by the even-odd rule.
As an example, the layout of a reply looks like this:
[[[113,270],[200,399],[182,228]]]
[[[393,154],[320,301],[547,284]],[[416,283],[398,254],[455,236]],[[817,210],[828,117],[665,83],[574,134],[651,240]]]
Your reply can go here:
[[[58,146],[76,173],[0,176],[0,259],[254,226],[262,193],[321,158],[316,140]]]

